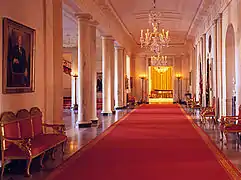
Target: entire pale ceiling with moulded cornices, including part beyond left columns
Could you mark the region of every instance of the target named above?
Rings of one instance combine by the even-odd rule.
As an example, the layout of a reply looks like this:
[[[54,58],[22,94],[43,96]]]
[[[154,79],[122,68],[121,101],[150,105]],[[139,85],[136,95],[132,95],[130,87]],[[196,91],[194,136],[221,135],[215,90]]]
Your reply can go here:
[[[170,31],[171,47],[185,48],[186,41],[198,36],[199,32],[205,32],[229,1],[231,0],[156,0],[156,7],[162,12],[161,27]],[[112,35],[127,52],[140,51],[140,30],[148,28],[148,11],[152,8],[153,0],[63,0],[63,2],[65,47],[77,45],[77,23],[74,13],[87,12],[99,22],[97,37],[100,34]],[[97,46],[100,47],[99,39]]]

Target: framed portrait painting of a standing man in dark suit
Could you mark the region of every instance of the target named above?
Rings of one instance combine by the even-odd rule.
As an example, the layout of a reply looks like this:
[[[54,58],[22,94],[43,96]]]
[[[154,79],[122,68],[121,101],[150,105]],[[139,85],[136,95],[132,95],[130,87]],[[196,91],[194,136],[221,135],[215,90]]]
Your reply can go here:
[[[3,93],[34,91],[35,30],[3,18]]]

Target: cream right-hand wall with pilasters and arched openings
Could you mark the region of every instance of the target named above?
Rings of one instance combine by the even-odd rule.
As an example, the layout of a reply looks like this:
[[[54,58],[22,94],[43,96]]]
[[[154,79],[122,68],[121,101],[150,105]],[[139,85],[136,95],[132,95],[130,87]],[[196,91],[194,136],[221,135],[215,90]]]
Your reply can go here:
[[[213,58],[214,63],[213,64],[213,68],[212,68],[212,74],[213,74],[213,78],[212,78],[212,85],[213,85],[213,95],[217,94],[218,96],[221,96],[220,99],[220,103],[221,103],[221,115],[225,115],[226,114],[226,101],[227,101],[227,97],[226,97],[226,88],[228,87],[229,90],[232,89],[232,87],[229,87],[226,85],[226,76],[227,76],[227,72],[226,72],[226,33],[227,33],[227,28],[230,24],[233,25],[234,27],[234,33],[235,33],[235,79],[236,79],[236,85],[235,85],[235,89],[236,89],[236,96],[237,96],[237,103],[236,103],[236,109],[238,108],[238,106],[241,103],[241,78],[240,78],[240,69],[241,69],[241,62],[240,62],[240,53],[241,53],[241,47],[240,47],[240,41],[241,41],[241,1],[240,0],[232,0],[230,1],[230,3],[227,4],[227,6],[222,7],[220,9],[220,14],[216,14],[215,17],[213,18],[213,23],[206,28],[206,30],[201,29],[203,26],[200,25],[200,29],[198,29],[198,34],[195,37],[195,47],[197,47],[196,49],[196,67],[198,67],[198,63],[199,63],[199,54],[201,54],[201,45],[200,45],[200,38],[202,37],[201,34],[206,34],[206,55],[207,58]],[[221,16],[221,26],[218,24],[220,22],[220,17]],[[215,19],[217,19],[217,24],[216,21],[214,21]],[[215,25],[217,25],[217,31],[215,32]],[[220,34],[220,27],[222,29],[221,34]],[[216,34],[217,33],[217,34]],[[208,37],[209,35],[212,36],[212,51],[209,54],[208,53]],[[217,43],[215,42],[215,36],[217,36]],[[221,51],[219,48],[219,45],[222,44],[221,46]],[[216,52],[217,50],[217,52]],[[215,54],[217,53],[217,54]],[[219,63],[220,61],[220,57],[222,57],[221,59],[221,63]],[[221,76],[219,76],[219,73],[217,71],[219,71],[219,69],[221,68]],[[198,71],[196,73],[196,77],[198,77]],[[215,77],[216,75],[216,77]],[[198,78],[197,78],[198,79]],[[232,81],[232,79],[230,79],[230,81]],[[219,85],[219,83],[214,83],[214,82],[220,82],[221,85]],[[220,86],[220,87],[219,87]],[[231,89],[230,89],[231,88]],[[196,89],[196,93],[198,93],[198,89],[199,89],[199,84],[197,82],[197,89]],[[221,89],[221,90],[220,90]],[[217,93],[216,93],[217,91]],[[220,92],[221,91],[221,95]],[[237,111],[236,111],[237,113]]]

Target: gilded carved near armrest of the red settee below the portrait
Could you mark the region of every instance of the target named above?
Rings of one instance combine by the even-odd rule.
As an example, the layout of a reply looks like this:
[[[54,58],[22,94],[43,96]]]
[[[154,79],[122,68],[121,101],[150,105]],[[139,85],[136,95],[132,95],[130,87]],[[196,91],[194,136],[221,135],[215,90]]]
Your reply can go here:
[[[24,151],[28,157],[32,157],[32,152],[31,152],[31,139],[27,138],[27,139],[12,139],[12,138],[6,138],[6,137],[2,137],[3,140],[13,143],[15,145],[17,145],[22,151]]]

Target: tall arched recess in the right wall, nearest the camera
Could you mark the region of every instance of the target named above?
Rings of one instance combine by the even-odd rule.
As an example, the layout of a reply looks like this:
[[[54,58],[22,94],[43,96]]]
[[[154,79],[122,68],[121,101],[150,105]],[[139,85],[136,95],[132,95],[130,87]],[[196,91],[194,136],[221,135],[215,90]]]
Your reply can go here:
[[[232,115],[235,104],[232,99],[234,98],[235,90],[235,37],[234,28],[230,24],[226,33],[226,114]]]

